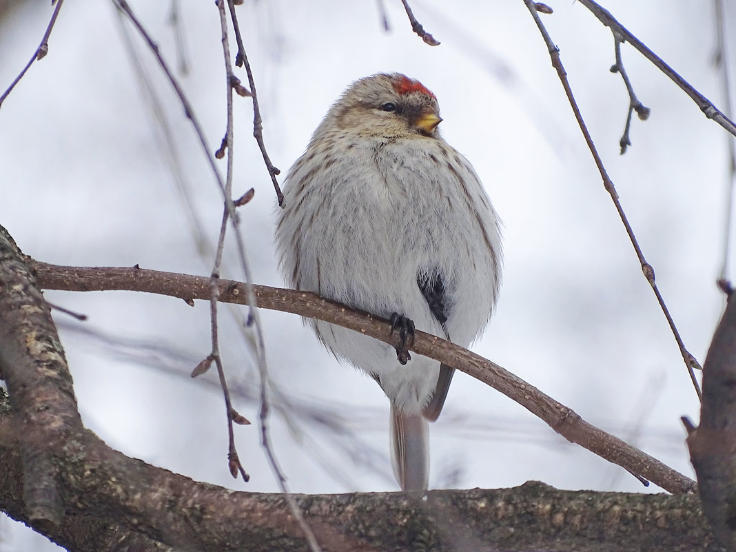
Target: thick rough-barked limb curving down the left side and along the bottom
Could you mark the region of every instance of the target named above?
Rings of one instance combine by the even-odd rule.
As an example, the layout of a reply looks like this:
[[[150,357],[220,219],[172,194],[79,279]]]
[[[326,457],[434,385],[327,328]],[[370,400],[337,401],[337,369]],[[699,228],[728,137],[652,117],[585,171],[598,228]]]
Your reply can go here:
[[[48,305],[0,228],[0,509],[71,551],[306,551],[281,495],[131,459],[82,426]],[[713,551],[696,495],[515,489],[298,496],[326,552]]]

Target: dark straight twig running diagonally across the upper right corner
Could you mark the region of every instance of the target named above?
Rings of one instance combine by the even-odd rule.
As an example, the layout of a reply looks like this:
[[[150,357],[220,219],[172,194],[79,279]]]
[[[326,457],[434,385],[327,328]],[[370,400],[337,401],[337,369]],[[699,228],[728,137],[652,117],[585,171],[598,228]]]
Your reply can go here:
[[[624,40],[626,40],[626,42],[631,44],[631,46],[634,46],[634,48],[636,48],[644,57],[651,61],[651,63],[654,63],[654,65],[657,66],[657,68],[659,68],[662,73],[670,77],[670,79],[676,85],[682,88],[682,91],[684,91],[684,93],[686,93],[688,96],[690,96],[690,98],[693,99],[693,102],[696,102],[698,107],[700,107],[707,118],[712,118],[715,122],[720,124],[721,127],[731,132],[732,135],[736,136],[736,124],[734,124],[734,122],[730,118],[728,118],[723,112],[721,112],[721,110],[715,107],[715,105],[713,105],[713,103],[705,96],[703,96],[703,94],[693,88],[693,86],[690,85],[689,82],[680,77],[680,75],[677,74],[677,72],[673,68],[668,66],[661,57],[652,52],[648,48],[648,46],[645,45],[645,43],[632,35],[631,32],[626,29],[626,27],[616,21],[616,19],[613,17],[613,15],[611,15],[608,10],[596,4],[593,0],[578,0],[578,3],[583,4],[584,7],[587,7],[587,9],[590,10],[592,14],[598,18],[598,21],[601,21],[602,24],[609,27],[614,33],[622,36]]]

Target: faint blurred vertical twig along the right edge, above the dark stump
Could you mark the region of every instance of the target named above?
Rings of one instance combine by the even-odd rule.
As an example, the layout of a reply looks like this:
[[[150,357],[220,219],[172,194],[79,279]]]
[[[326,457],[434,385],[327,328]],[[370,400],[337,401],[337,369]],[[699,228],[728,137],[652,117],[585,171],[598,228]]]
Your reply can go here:
[[[729,75],[728,50],[726,49],[726,23],[723,13],[723,0],[715,3],[715,66],[721,76],[721,95],[723,108],[731,116],[731,78]],[[723,252],[719,280],[729,279],[729,254],[731,250],[731,225],[733,218],[734,185],[736,184],[736,144],[733,136],[726,136],[726,151],[729,155],[729,174],[726,182],[726,213],[723,220]]]

